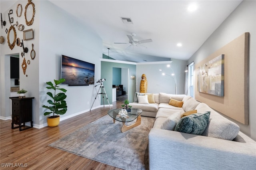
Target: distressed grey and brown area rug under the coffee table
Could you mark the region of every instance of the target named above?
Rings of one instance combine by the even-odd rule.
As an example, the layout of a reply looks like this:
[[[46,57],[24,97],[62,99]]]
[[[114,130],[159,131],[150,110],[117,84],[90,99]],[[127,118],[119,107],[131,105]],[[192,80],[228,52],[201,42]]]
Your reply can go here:
[[[122,122],[114,124],[105,115],[49,146],[125,170],[147,170],[148,133],[154,120],[141,117],[141,125],[122,133]]]

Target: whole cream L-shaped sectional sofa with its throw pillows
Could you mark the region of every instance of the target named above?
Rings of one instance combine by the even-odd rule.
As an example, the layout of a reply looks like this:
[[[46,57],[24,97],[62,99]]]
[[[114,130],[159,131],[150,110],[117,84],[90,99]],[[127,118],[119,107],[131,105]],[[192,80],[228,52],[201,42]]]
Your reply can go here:
[[[256,167],[256,142],[205,103],[187,95],[135,93],[129,105],[156,118],[148,134],[150,170]],[[202,117],[203,131],[197,122]],[[197,123],[201,132],[193,130]]]

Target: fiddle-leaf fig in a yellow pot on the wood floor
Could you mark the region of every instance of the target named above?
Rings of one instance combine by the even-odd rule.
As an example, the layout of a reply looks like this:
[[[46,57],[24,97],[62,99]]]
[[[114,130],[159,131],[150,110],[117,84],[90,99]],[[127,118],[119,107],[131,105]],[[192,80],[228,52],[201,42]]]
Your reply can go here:
[[[67,103],[65,101],[66,99],[66,89],[59,88],[59,84],[63,83],[66,81],[65,79],[60,79],[60,80],[54,80],[55,85],[51,82],[48,81],[46,82],[48,87],[47,89],[52,89],[54,93],[47,92],[46,94],[50,96],[52,99],[48,100],[47,102],[50,104],[50,106],[43,105],[44,108],[49,109],[50,112],[45,112],[44,115],[50,115],[53,113],[52,116],[47,117],[47,124],[49,127],[55,127],[58,126],[60,123],[60,116],[59,115],[64,115],[67,111]],[[60,90],[58,93],[56,90]]]

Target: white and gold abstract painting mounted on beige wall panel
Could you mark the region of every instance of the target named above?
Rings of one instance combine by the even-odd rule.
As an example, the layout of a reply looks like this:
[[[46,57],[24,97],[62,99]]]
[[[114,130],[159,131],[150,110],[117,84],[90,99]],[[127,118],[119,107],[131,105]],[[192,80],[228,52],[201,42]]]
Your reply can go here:
[[[198,91],[224,96],[224,54],[198,67]]]

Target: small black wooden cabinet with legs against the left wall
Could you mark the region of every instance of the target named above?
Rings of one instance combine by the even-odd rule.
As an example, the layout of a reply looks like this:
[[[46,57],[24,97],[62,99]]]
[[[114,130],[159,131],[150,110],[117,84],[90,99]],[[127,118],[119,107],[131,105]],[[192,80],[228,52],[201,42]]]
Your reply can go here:
[[[12,129],[19,128],[20,131],[25,130],[27,128],[33,127],[32,121],[32,99],[34,97],[9,97],[12,99]],[[27,128],[25,127],[25,123],[30,122],[31,126]],[[18,127],[14,127],[15,125],[19,125]],[[23,124],[23,125],[22,125]]]

